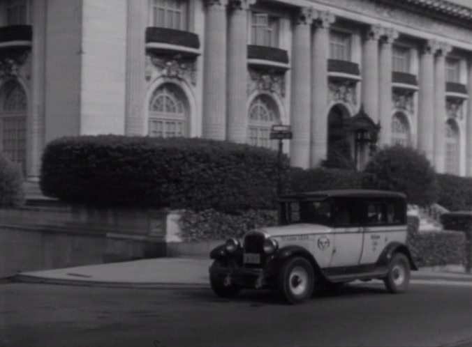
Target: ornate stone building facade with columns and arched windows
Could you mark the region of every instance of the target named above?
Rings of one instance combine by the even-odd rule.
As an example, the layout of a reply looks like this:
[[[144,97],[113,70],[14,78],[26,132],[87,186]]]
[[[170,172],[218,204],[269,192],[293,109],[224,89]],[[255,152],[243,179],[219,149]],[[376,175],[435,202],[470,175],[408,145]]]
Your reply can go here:
[[[401,144],[472,176],[472,6],[452,1],[0,0],[0,150],[35,178],[58,137],[275,148],[284,124],[293,166]]]

